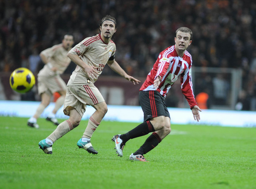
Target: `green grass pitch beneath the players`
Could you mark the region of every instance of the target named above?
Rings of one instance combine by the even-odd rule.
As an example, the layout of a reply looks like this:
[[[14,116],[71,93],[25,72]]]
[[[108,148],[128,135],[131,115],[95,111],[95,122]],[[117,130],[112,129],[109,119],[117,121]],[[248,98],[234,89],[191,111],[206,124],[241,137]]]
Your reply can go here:
[[[63,120],[59,120],[63,121]],[[92,137],[99,152],[76,145],[86,120],[55,142],[53,154],[38,148],[56,126],[39,119],[39,129],[27,118],[0,117],[0,189],[255,189],[256,128],[172,125],[172,132],[145,155],[149,162],[132,162],[147,136],[115,154],[115,134],[137,123],[102,121]]]

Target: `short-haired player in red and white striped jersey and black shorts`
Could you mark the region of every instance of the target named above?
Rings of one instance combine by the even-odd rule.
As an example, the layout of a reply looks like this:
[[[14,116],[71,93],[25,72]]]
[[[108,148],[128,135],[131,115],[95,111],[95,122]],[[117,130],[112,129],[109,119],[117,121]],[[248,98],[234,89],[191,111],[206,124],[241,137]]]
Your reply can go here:
[[[175,45],[162,51],[139,91],[139,102],[144,112],[144,122],[125,134],[112,138],[120,157],[125,143],[132,138],[152,133],[145,143],[129,157],[130,160],[147,161],[143,156],[155,148],[171,132],[171,119],[165,104],[167,92],[180,76],[181,91],[186,97],[194,119],[199,121],[201,109],[193,94],[192,58],[186,49],[191,44],[192,31],[181,27],[176,31]]]

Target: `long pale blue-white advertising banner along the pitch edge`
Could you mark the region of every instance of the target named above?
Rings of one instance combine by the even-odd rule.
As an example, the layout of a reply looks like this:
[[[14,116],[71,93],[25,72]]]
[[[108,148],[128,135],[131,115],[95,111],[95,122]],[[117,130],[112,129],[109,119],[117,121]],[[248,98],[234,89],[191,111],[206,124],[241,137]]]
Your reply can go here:
[[[0,116],[31,117],[40,102],[28,101],[1,101]],[[45,118],[54,108],[54,103],[45,109],[41,117]],[[63,107],[57,112],[57,118],[68,119],[65,116]],[[231,110],[202,110],[200,112],[201,120],[194,120],[190,109],[168,108],[171,115],[171,124],[201,124],[212,126],[233,126],[233,127],[256,127],[256,111],[231,111]],[[82,119],[89,119],[93,114],[94,108],[87,106]],[[105,115],[105,121],[137,122],[143,121],[143,112],[139,106],[119,106],[108,105],[108,111]]]

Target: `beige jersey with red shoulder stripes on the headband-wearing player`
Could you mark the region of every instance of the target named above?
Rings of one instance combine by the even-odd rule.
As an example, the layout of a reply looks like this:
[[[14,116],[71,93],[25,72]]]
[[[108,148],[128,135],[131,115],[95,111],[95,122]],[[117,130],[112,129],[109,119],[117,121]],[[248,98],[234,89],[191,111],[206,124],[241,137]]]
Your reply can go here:
[[[112,40],[106,44],[102,40],[100,34],[97,34],[96,36],[85,38],[79,44],[74,46],[69,53],[77,54],[80,59],[87,65],[93,65],[97,67],[97,77],[99,77],[103,68],[109,61],[109,58],[114,56],[115,51],[116,45]],[[72,75],[70,76],[70,80],[68,81],[67,85],[85,85],[87,84],[87,80],[90,80],[92,83],[94,83],[97,81],[97,79],[98,78],[87,78],[84,69],[77,65]]]

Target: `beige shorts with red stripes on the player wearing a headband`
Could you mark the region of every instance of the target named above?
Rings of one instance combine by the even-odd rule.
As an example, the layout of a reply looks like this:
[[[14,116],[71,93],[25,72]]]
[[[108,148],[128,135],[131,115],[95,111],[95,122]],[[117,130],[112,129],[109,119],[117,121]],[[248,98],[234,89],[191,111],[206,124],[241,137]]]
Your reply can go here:
[[[87,85],[67,86],[67,94],[64,102],[64,114],[70,116],[70,110],[76,109],[83,116],[87,105],[93,106],[104,102],[104,98],[98,88],[92,83]]]

